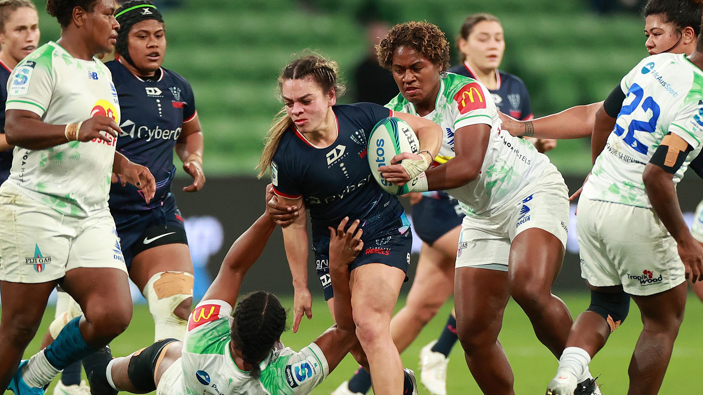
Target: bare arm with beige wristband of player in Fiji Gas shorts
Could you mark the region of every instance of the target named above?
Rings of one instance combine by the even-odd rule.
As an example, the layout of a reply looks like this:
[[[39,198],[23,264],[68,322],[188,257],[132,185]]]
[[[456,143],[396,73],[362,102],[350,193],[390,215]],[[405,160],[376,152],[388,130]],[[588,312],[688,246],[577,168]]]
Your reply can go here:
[[[7,110],[5,117],[7,143],[30,150],[44,150],[68,141],[86,142],[95,138],[111,143],[122,131],[113,119],[102,115],[68,125],[45,124],[38,114],[26,110]]]

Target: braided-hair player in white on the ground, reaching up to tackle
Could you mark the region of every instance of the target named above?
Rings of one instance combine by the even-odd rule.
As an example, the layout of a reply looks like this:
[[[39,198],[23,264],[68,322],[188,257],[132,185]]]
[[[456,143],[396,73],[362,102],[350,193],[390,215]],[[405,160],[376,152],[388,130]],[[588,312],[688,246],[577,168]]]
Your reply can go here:
[[[363,241],[362,231],[356,230],[359,221],[346,226],[343,219],[328,230],[339,322],[308,347],[295,352],[280,343],[287,311],[273,294],[249,294],[232,312],[245,274],[276,228],[264,214],[230,248],[217,278],[191,313],[185,341],[163,339],[124,358],[113,359],[109,349],[85,358],[92,394],[309,394],[356,343],[349,264],[362,251]],[[405,386],[405,394],[417,394],[411,374]]]

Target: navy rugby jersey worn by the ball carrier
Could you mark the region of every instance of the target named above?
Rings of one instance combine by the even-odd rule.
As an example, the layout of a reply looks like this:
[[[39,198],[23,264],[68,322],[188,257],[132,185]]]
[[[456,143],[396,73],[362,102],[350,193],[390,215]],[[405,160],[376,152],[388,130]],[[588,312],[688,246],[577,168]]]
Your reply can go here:
[[[363,220],[400,205],[373,179],[366,157],[370,132],[393,111],[373,103],[332,109],[337,119],[337,140],[332,145],[317,148],[293,126],[283,134],[271,162],[276,194],[289,199],[302,196],[313,231],[323,234],[344,216]]]

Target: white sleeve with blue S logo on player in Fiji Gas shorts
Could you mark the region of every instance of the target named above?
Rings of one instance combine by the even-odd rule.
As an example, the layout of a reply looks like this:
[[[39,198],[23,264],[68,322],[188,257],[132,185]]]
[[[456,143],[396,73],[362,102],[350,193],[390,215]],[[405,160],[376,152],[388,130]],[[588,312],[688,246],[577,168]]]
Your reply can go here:
[[[7,82],[5,110],[27,110],[39,117],[49,108],[53,92],[51,63],[44,58],[25,60],[15,67]]]

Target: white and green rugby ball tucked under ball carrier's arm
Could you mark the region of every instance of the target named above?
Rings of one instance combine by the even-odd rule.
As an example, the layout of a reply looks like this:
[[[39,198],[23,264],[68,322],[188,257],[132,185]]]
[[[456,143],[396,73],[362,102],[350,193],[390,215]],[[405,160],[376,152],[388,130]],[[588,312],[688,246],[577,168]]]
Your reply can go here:
[[[408,193],[408,184],[396,186],[386,181],[379,167],[391,164],[394,156],[401,153],[416,154],[420,150],[415,132],[403,119],[388,117],[381,119],[368,136],[368,165],[378,185],[391,195]]]

